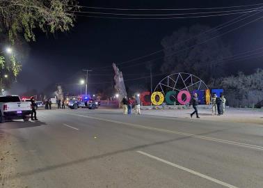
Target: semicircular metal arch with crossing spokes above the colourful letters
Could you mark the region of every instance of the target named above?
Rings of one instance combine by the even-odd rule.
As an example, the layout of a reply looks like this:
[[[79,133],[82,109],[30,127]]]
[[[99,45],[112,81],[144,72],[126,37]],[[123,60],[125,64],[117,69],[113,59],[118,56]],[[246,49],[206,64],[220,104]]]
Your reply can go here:
[[[207,84],[205,84],[202,79],[191,75],[186,72],[178,72],[172,75],[168,75],[162,79],[157,86],[154,88],[155,91],[160,91],[164,95],[168,91],[175,91],[179,93],[180,91],[189,91],[189,93],[195,90],[206,90],[209,89]]]

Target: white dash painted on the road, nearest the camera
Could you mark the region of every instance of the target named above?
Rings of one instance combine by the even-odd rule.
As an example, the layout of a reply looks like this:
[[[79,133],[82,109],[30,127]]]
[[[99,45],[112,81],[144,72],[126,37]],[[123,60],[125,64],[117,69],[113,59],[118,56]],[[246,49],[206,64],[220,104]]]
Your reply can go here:
[[[180,166],[180,165],[174,164],[174,163],[172,163],[172,162],[168,162],[168,161],[166,161],[166,160],[164,160],[164,159],[161,159],[161,158],[159,158],[159,157],[155,157],[155,156],[150,155],[150,154],[148,154],[148,153],[146,153],[146,152],[142,152],[142,151],[137,151],[137,152],[138,152],[138,153],[141,153],[141,155],[145,155],[145,156],[150,157],[150,158],[152,158],[152,159],[156,159],[156,160],[158,160],[159,162],[164,162],[165,164],[169,164],[170,166],[174,166],[174,167],[176,167],[177,169],[181,169],[181,170],[183,170],[183,171],[192,173],[192,174],[194,174],[194,175],[198,175],[198,176],[201,177],[201,178],[205,178],[205,179],[210,180],[210,181],[212,181],[212,182],[215,182],[215,183],[217,183],[217,184],[219,184],[219,185],[223,185],[223,186],[229,187],[229,188],[237,188],[237,187],[235,187],[234,185],[230,185],[230,184],[228,184],[228,183],[226,183],[226,182],[222,182],[221,180],[216,180],[215,178],[211,178],[211,177],[209,177],[208,175],[205,175],[205,174],[202,174],[202,173],[198,173],[198,172],[196,172],[196,171],[193,171],[193,170],[191,170],[191,169],[187,169],[187,168],[185,168],[184,166]]]

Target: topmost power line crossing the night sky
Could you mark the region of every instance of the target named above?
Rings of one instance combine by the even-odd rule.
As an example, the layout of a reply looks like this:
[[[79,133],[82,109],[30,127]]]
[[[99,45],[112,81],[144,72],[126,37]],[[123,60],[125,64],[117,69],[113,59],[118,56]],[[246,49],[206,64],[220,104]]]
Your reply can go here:
[[[263,3],[241,5],[241,6],[223,6],[223,7],[210,7],[210,8],[105,8],[95,6],[79,6],[80,8],[93,8],[102,10],[212,10],[212,9],[224,9],[224,8],[241,8],[249,6],[262,6]]]

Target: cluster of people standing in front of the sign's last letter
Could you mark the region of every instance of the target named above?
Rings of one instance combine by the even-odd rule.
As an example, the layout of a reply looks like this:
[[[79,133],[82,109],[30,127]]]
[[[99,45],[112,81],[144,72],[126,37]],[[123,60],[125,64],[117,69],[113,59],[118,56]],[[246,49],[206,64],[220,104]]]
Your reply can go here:
[[[218,97],[216,95],[216,93],[213,93],[213,97],[212,97],[212,114],[216,115],[216,111],[218,112],[218,116],[223,115],[223,113],[225,113],[225,96],[224,95],[220,95],[220,97]]]

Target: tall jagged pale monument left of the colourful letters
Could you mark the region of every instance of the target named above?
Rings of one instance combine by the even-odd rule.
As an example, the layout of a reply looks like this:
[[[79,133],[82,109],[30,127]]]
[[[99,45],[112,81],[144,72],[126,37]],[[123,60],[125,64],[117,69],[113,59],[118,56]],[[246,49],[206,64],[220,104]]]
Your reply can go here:
[[[113,63],[113,69],[115,72],[115,75],[114,75],[115,86],[114,86],[114,88],[118,92],[118,95],[119,95],[118,100],[119,100],[119,107],[120,107],[121,102],[122,102],[122,98],[127,96],[127,92],[126,92],[122,72],[118,69],[118,67],[115,65],[115,63]]]

